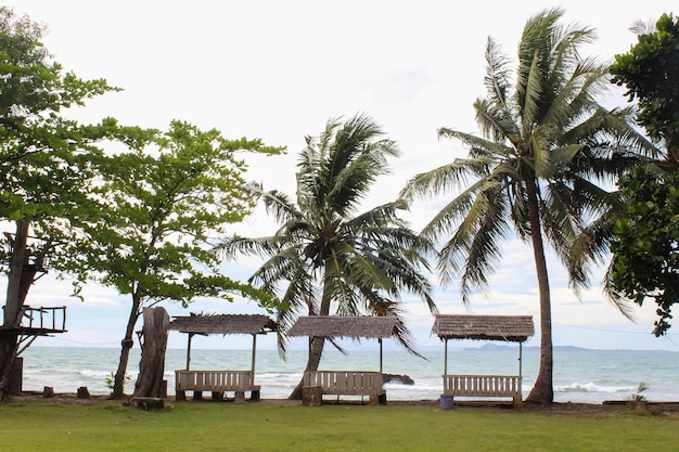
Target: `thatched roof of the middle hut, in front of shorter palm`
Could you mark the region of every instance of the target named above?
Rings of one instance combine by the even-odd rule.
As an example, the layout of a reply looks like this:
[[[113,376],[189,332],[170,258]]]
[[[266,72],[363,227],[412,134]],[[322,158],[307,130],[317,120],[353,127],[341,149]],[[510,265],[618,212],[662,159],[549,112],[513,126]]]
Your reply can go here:
[[[392,317],[308,315],[298,318],[287,335],[381,339],[394,336],[396,323]]]

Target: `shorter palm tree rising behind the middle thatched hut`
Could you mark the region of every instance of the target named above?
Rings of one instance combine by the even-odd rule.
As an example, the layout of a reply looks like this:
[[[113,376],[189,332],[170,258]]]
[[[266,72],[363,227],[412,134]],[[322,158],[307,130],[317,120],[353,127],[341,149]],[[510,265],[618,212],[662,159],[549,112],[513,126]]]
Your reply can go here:
[[[432,287],[420,269],[428,270],[431,242],[397,217],[402,203],[388,203],[357,214],[386,157],[397,156],[396,143],[369,117],[330,120],[318,138],[307,138],[297,172],[297,199],[278,191],[259,195],[280,223],[271,236],[234,236],[219,247],[227,256],[257,254],[267,260],[249,282],[276,292],[284,285],[278,312],[279,346],[297,314],[394,315],[397,341],[415,352],[401,317],[402,292],[421,297],[436,311]],[[324,339],[312,338],[307,371],[318,370]],[[299,398],[298,387],[290,396]]]

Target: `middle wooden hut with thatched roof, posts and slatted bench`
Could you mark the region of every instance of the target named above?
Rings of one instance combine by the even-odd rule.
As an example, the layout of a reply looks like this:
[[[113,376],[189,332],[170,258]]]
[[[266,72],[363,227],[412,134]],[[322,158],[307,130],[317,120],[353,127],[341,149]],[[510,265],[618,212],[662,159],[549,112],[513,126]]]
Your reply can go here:
[[[386,403],[383,387],[382,341],[396,334],[397,320],[393,317],[361,315],[309,315],[300,317],[289,330],[287,335],[377,339],[380,343],[380,371],[306,371],[303,377],[305,388],[316,392],[320,403],[322,395],[369,396],[371,403]]]

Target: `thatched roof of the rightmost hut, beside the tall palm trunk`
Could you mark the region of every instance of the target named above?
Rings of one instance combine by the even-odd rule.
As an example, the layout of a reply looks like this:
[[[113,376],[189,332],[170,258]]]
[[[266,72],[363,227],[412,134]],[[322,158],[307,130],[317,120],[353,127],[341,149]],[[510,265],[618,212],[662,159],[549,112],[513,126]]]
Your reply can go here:
[[[441,339],[479,339],[523,343],[535,334],[531,315],[444,315],[432,333]]]

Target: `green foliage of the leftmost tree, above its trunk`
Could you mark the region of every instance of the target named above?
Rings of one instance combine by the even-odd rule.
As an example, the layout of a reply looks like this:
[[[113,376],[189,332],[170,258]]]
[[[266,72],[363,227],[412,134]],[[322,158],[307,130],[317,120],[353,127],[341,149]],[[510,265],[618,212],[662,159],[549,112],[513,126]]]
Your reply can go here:
[[[116,124],[80,125],[62,113],[114,88],[64,74],[40,42],[43,33],[28,17],[0,9],[0,218],[64,240],[73,235],[68,219],[82,214],[92,158],[100,153],[95,143]]]

